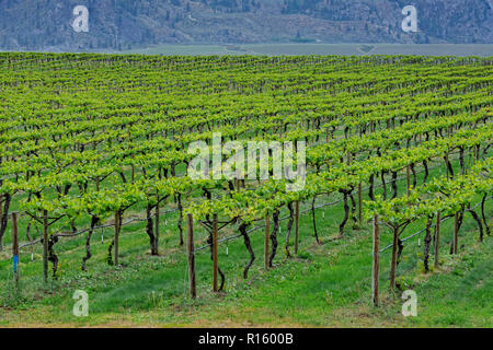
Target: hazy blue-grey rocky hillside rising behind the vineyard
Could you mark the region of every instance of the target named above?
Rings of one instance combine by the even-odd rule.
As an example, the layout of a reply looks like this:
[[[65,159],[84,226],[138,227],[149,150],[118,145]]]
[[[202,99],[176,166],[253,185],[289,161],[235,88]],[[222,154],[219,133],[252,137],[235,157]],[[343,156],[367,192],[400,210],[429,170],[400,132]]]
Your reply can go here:
[[[419,11],[419,32],[401,10]],[[71,26],[89,9],[88,33]],[[493,43],[489,0],[2,0],[0,49],[128,50],[156,44]]]

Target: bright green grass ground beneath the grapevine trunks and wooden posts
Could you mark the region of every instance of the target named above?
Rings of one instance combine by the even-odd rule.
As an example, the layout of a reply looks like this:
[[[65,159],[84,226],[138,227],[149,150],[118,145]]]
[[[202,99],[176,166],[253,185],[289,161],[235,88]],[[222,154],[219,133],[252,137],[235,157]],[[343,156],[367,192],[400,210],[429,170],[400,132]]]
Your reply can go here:
[[[457,163],[457,162],[456,162]],[[432,175],[437,176],[437,171]],[[422,179],[420,174],[420,180]],[[399,184],[400,192],[403,183]],[[334,195],[335,196],[335,195]],[[320,202],[335,197],[320,197]],[[365,194],[366,196],[366,194]],[[173,205],[170,205],[173,206]],[[492,209],[488,208],[488,218]],[[128,212],[126,218],[135,215]],[[284,217],[285,213],[283,213]],[[187,295],[186,255],[179,246],[176,213],[161,218],[161,256],[149,254],[145,223],[125,226],[121,236],[122,267],[106,264],[112,231],[96,232],[92,241],[93,257],[89,271],[80,270],[85,253],[85,237],[66,238],[56,245],[60,259],[58,278],[49,285],[42,281],[42,252],[36,246],[34,261],[31,248],[22,250],[21,285],[12,283],[9,247],[0,253],[0,325],[1,326],[296,326],[296,327],[491,327],[492,257],[491,237],[478,242],[470,215],[460,231],[460,254],[448,254],[452,220],[443,225],[442,267],[425,275],[422,270],[423,246],[414,237],[406,242],[398,278],[404,289],[417,293],[417,317],[401,314],[401,292],[388,291],[390,250],[381,254],[382,305],[370,302],[371,234],[370,225],[337,236],[342,205],[317,210],[322,244],[314,242],[309,213],[300,220],[300,250],[294,258],[284,253],[286,221],[278,235],[275,267],[263,270],[263,230],[251,234],[256,260],[243,280],[249,259],[242,240],[219,246],[219,265],[226,273],[223,293],[211,291],[213,266],[209,249],[196,254],[198,299]],[[167,223],[167,225],[164,225]],[[421,230],[424,222],[412,224],[406,236]],[[21,225],[21,234],[25,225]],[[9,232],[9,231],[8,231]],[[236,234],[228,229],[220,237]],[[101,236],[104,242],[102,243]],[[291,235],[294,237],[294,234]],[[9,242],[8,237],[7,242]],[[205,243],[203,229],[195,230],[196,246]],[[381,246],[391,242],[388,231]],[[291,238],[293,245],[293,238]],[[228,247],[228,254],[226,248]],[[291,253],[294,247],[291,246]],[[432,252],[433,255],[433,252]],[[433,265],[433,258],[432,258]],[[76,290],[90,296],[90,316],[72,315]]]

